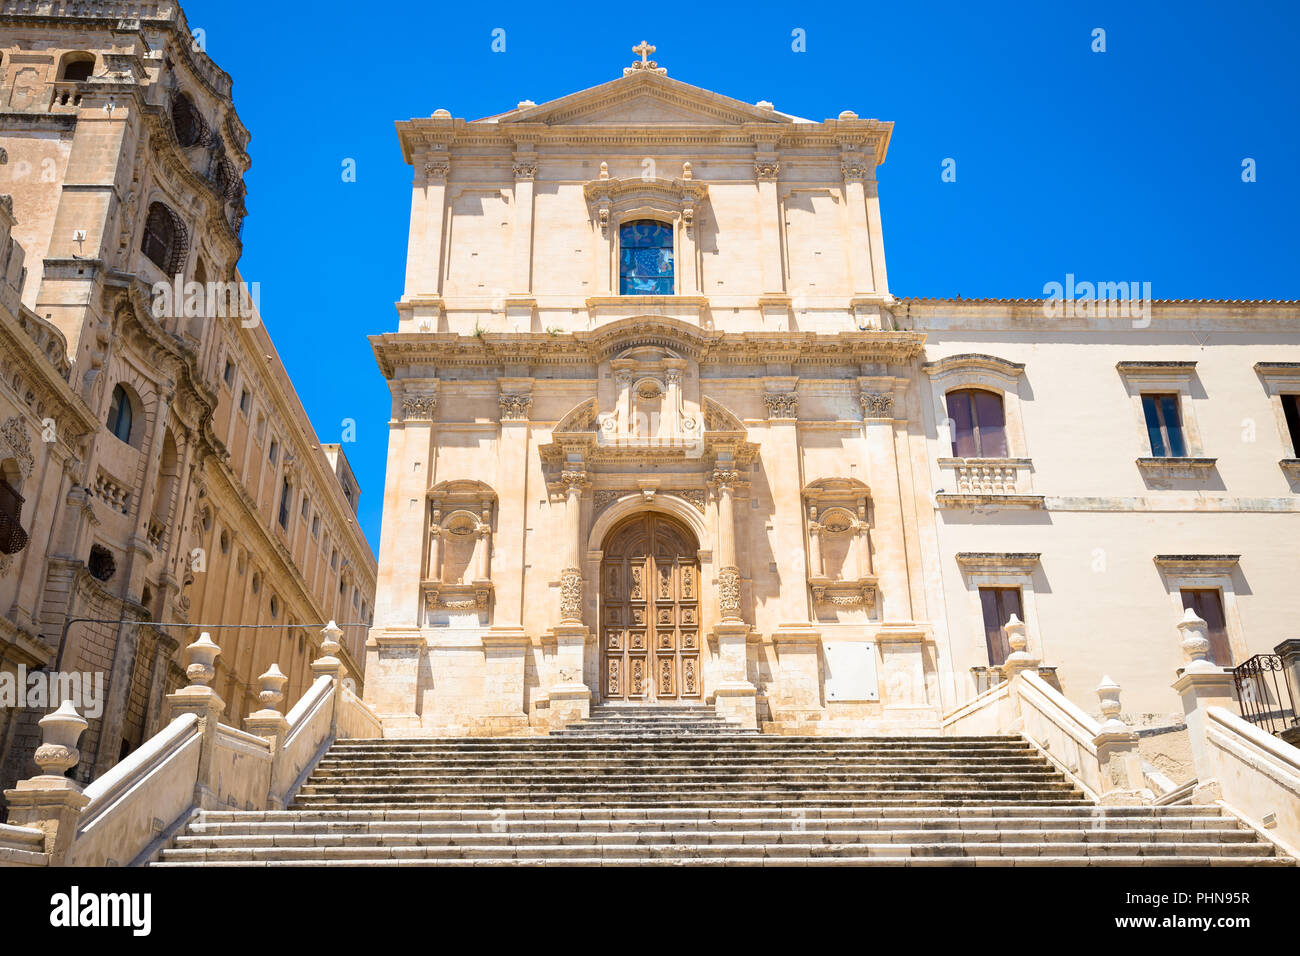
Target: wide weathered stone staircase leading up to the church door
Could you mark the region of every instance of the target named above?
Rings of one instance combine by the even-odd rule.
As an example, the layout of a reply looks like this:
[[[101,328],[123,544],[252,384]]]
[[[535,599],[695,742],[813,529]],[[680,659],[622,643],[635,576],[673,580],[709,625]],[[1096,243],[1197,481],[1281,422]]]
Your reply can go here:
[[[597,708],[547,737],[339,740],[155,866],[1294,865],[1212,806],[1091,804],[1019,737],[797,737]]]

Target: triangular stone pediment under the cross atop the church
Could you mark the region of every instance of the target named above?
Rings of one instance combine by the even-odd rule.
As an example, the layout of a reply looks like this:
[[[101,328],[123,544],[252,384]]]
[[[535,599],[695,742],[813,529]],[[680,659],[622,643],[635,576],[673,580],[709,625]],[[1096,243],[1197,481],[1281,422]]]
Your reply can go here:
[[[636,73],[478,122],[546,126],[740,126],[754,122],[788,125],[798,121],[797,117],[775,109],[742,103],[658,73]]]

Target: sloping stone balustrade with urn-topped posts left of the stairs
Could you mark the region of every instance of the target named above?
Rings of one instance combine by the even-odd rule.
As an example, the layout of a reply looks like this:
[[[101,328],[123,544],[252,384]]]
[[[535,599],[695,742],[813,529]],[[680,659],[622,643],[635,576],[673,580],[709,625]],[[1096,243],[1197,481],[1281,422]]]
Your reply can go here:
[[[283,715],[286,678],[272,665],[259,678],[261,709],[244,727],[221,723],[225,702],[212,687],[221,654],[204,632],[185,649],[190,683],[168,696],[170,722],[88,787],[64,773],[81,758],[86,721],[65,701],[40,721],[42,774],[5,791],[0,866],[140,864],[198,809],[282,809],[335,739],[382,736],[374,713],[351,688],[337,657],[342,631],[322,631],[316,679]]]

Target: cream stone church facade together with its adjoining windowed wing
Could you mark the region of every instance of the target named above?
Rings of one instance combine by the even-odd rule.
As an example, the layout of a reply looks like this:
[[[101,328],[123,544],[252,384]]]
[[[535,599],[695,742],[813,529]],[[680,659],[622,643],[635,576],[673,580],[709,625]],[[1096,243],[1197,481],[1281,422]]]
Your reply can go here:
[[[936,732],[1009,633],[1086,710],[1114,675],[1158,735],[1184,606],[1222,666],[1284,636],[1296,303],[894,298],[892,124],[636,52],[549,103],[398,125],[406,289],[370,339],[386,735],[602,702]]]

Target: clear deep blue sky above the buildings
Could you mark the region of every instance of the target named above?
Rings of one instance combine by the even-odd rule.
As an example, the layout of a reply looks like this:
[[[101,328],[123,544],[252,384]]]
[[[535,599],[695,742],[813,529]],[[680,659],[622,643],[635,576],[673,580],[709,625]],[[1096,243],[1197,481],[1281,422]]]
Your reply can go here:
[[[376,553],[389,397],[365,337],[396,328],[411,195],[394,121],[595,86],[641,39],[746,103],[896,124],[878,172],[894,295],[1040,295],[1072,272],[1300,298],[1300,4],[183,5],[252,131],[244,277],[321,440],[358,423]]]

